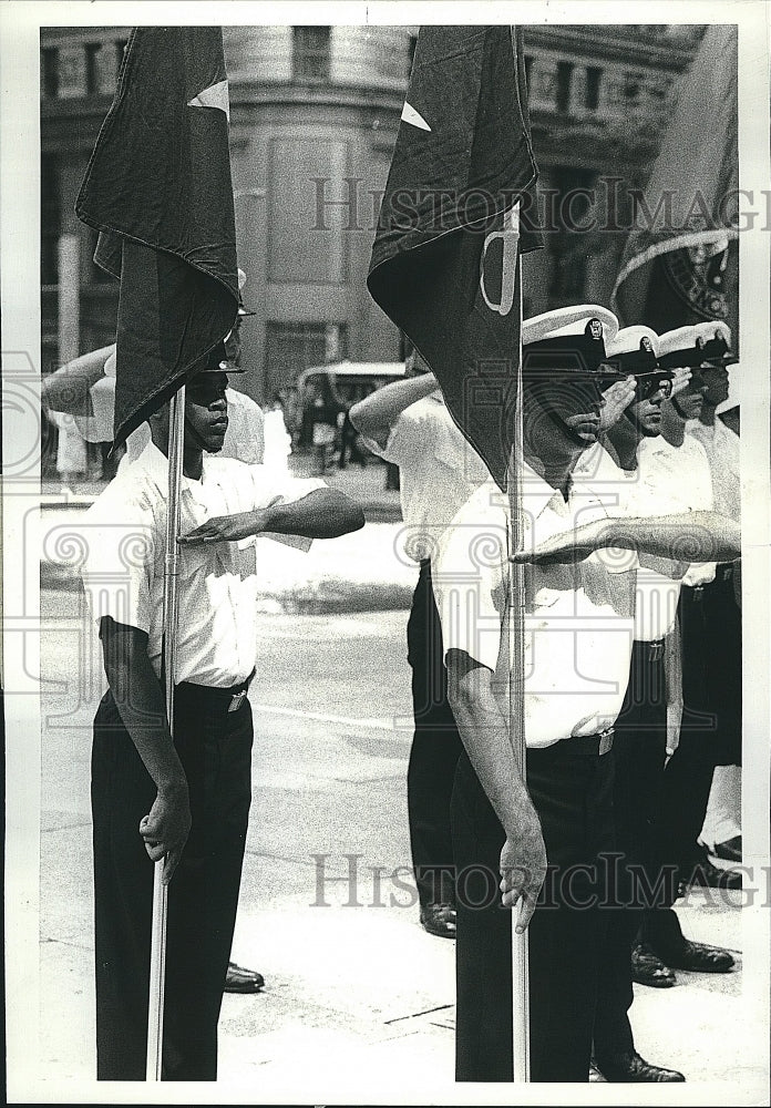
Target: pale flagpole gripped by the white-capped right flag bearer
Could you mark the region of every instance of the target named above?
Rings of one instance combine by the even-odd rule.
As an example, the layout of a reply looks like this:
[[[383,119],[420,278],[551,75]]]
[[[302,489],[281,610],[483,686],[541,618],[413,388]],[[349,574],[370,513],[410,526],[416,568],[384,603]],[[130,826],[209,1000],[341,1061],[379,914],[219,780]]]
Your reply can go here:
[[[511,226],[518,233],[520,205],[513,207]],[[516,285],[520,298],[520,337],[516,359],[516,398],[514,408],[514,435],[508,456],[508,517],[511,551],[523,544],[523,409],[522,409],[522,261],[516,258]],[[510,562],[508,575],[508,733],[514,757],[527,783],[525,759],[525,577],[524,566]],[[514,1083],[530,1081],[530,971],[527,962],[527,932],[517,935],[512,919],[512,1033]]]

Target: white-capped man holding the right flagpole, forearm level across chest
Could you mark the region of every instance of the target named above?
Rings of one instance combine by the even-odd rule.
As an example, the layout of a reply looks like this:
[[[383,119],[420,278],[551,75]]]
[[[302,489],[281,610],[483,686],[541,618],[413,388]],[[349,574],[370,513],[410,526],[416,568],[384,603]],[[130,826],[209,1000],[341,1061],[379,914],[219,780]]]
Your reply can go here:
[[[683,523],[611,519],[602,490],[572,480],[599,430],[608,317],[615,334],[615,317],[594,306],[523,325],[525,550],[514,556],[536,563],[525,573],[526,787],[505,707],[507,503],[492,482],[458,514],[436,560],[450,702],[465,748],[452,806],[456,1080],[512,1079],[511,916],[498,873],[517,929],[530,924],[532,1080],[588,1079],[599,905],[615,847],[607,755],[627,686],[637,565],[635,554],[595,552],[640,545],[661,555],[668,529]],[[536,366],[544,378],[531,376]],[[721,532],[701,515],[695,542],[711,550],[713,525]],[[732,556],[730,529],[718,548]]]

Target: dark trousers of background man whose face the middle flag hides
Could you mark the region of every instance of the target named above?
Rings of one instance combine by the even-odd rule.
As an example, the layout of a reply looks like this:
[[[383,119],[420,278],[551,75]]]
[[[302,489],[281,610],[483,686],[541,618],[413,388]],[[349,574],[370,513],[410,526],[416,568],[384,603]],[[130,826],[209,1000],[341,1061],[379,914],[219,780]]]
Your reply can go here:
[[[442,627],[431,587],[431,563],[423,562],[407,624],[412,667],[415,730],[407,771],[412,865],[421,905],[455,899],[450,801],[463,749],[448,702]]]

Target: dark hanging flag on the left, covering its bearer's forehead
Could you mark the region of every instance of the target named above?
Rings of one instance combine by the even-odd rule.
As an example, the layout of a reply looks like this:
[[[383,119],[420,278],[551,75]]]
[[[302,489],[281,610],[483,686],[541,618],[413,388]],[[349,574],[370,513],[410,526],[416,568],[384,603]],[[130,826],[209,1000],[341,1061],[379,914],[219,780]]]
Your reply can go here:
[[[115,442],[218,348],[238,310],[218,27],[142,27],[78,197],[94,260],[121,280]]]

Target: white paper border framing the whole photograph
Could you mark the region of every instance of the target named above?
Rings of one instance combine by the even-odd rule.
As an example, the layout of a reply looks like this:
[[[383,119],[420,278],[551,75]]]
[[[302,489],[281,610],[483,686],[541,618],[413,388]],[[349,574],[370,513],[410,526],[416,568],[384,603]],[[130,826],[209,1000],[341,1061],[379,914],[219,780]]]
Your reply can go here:
[[[40,869],[40,705],[39,545],[30,542],[29,522],[38,506],[39,466],[31,480],[14,469],[29,449],[40,422],[39,379],[25,362],[30,351],[40,367],[40,96],[39,29],[47,25],[131,25],[153,23],[721,23],[739,25],[740,185],[755,196],[769,189],[769,8],[762,0],[732,3],[618,2],[563,0],[492,0],[466,3],[340,2],[126,3],[96,0],[62,4],[55,0],[10,0],[0,8],[2,91],[0,99],[0,289],[3,350],[3,616],[7,724],[6,839],[6,981],[7,1065],[9,1102],[58,1104],[662,1104],[656,1087],[613,1085],[520,1086],[426,1084],[419,1074],[372,1075],[369,1089],[352,1087],[341,1074],[333,1088],[321,1088],[312,1075],[287,1075],[277,1087],[239,1088],[227,1076],[212,1085],[97,1084],[73,1081],[52,1087],[31,1068],[38,1051],[41,998],[38,920]],[[769,605],[769,217],[765,196],[757,226],[740,236],[740,320],[742,356],[742,497],[743,606],[746,642],[744,702],[751,705],[753,746],[747,751],[743,833],[746,858],[768,865],[769,859],[769,674],[771,611]],[[757,207],[757,205],[755,205]],[[752,320],[748,325],[748,320]],[[13,353],[17,351],[17,353]],[[8,407],[7,407],[8,406]],[[35,480],[37,478],[37,480]],[[23,587],[19,570],[24,567]],[[13,690],[12,693],[8,690]],[[749,715],[746,709],[746,718]],[[746,741],[748,739],[746,724]],[[73,859],[78,864],[78,859]],[[768,879],[768,870],[765,871]],[[760,1059],[769,1042],[769,889],[759,889],[755,904],[743,911],[743,995],[757,1012]],[[751,972],[747,972],[749,967]],[[731,1029],[727,1028],[727,1034]],[[748,1045],[741,1049],[747,1051]],[[676,1057],[676,1055],[675,1055]],[[298,1067],[301,1068],[301,1067]],[[569,1088],[569,1096],[567,1096]],[[667,1104],[723,1105],[760,1102],[747,1099],[758,1090],[733,1089],[727,1083],[707,1086],[689,1080],[669,1087]],[[743,1098],[742,1098],[743,1097]]]

